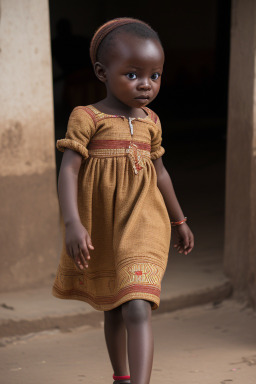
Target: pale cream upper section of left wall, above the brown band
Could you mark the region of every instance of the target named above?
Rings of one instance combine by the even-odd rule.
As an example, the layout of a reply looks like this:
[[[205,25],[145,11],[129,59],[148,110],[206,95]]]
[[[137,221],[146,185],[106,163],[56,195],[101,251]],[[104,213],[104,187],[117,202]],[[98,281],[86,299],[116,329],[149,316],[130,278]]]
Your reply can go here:
[[[0,175],[43,173],[54,164],[48,2],[2,0],[0,28]]]

